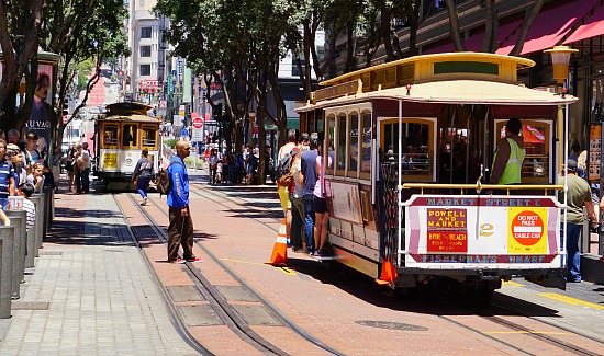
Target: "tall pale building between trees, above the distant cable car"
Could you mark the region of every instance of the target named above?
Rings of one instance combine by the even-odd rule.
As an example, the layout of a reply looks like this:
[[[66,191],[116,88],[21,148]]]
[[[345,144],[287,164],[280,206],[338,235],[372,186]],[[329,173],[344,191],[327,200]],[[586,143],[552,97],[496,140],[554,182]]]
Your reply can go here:
[[[127,7],[128,45],[132,56],[127,58],[126,97],[154,104],[159,99],[165,80],[167,44],[161,31],[168,26],[164,16],[156,18],[153,8],[156,0],[130,0]]]

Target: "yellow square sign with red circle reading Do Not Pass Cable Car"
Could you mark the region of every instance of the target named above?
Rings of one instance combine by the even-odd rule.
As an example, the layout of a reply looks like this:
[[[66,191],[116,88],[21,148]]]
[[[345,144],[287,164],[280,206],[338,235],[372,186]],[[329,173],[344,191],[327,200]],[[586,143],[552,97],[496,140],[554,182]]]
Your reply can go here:
[[[546,253],[547,252],[547,208],[513,208],[507,210],[510,230],[507,238],[508,253]]]

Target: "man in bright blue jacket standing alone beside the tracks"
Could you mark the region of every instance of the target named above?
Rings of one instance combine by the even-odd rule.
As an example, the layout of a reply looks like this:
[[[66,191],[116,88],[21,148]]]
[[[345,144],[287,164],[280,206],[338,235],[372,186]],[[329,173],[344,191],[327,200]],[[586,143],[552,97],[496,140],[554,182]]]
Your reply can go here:
[[[184,159],[191,154],[187,141],[176,143],[176,156],[168,166],[171,191],[168,193],[168,208],[170,225],[168,226],[168,262],[186,263],[198,262],[193,254],[193,220],[189,211],[189,174]],[[178,249],[182,244],[182,256],[178,256]]]

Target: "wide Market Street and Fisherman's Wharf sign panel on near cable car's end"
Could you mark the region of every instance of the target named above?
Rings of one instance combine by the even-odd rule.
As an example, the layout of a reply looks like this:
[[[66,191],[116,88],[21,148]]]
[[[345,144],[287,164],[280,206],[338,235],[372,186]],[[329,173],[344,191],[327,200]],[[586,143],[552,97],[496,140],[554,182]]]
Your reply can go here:
[[[555,197],[414,195],[405,206],[407,267],[559,264]]]

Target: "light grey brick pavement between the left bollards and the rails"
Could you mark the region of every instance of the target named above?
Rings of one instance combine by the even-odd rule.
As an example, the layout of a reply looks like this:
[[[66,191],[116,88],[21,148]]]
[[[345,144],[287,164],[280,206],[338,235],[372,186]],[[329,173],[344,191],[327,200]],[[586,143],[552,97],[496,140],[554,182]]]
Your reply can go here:
[[[56,194],[56,219],[27,271],[1,355],[195,355],[111,195]]]

